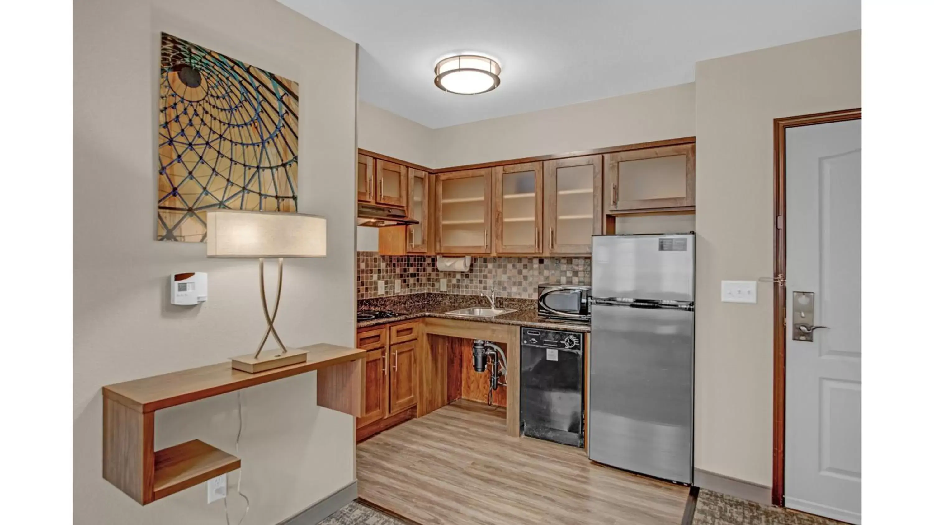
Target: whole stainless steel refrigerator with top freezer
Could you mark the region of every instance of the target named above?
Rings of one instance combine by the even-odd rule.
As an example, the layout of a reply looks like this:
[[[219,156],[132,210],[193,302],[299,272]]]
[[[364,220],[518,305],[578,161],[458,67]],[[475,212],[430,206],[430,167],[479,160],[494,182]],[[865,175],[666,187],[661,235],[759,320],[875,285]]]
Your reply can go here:
[[[693,480],[694,235],[593,237],[591,460]]]

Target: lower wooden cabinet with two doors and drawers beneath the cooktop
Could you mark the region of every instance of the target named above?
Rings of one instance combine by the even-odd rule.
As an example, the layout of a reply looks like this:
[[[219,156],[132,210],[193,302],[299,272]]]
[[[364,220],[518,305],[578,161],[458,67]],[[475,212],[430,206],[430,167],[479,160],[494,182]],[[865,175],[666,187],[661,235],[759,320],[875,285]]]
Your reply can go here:
[[[371,326],[357,331],[364,362],[363,415],[357,440],[416,416],[418,402],[418,322]]]

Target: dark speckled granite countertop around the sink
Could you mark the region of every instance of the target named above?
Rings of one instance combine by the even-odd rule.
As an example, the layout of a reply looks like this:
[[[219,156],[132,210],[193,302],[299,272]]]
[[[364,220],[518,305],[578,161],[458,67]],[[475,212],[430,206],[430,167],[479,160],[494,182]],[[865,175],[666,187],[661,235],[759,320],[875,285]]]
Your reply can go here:
[[[391,310],[399,315],[385,319],[361,321],[358,328],[366,326],[388,325],[418,319],[420,317],[438,317],[441,319],[455,319],[460,321],[475,321],[480,323],[495,323],[497,325],[520,325],[534,328],[552,328],[556,330],[573,330],[589,332],[589,323],[573,323],[539,317],[535,299],[521,299],[516,297],[496,297],[497,308],[507,308],[516,311],[503,313],[496,317],[476,318],[462,315],[449,315],[446,311],[460,310],[472,306],[489,306],[489,299],[483,296],[460,296],[454,294],[422,293],[406,296],[375,297],[357,301],[357,310]]]

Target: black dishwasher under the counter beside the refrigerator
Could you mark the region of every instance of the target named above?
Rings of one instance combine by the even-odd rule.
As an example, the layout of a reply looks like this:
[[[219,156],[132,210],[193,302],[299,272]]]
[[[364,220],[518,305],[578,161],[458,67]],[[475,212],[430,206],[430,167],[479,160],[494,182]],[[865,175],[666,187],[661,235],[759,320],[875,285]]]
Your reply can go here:
[[[522,328],[522,435],[584,446],[584,334]]]

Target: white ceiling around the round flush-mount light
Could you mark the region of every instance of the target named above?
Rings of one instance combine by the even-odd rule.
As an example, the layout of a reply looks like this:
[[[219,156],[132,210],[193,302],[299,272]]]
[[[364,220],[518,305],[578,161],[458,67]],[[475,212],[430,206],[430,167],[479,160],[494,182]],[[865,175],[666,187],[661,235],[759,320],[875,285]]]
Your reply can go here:
[[[859,0],[279,0],[360,43],[360,98],[430,128],[694,80],[694,63],[860,27]],[[440,58],[502,64],[479,95],[434,86]]]

